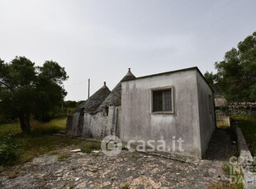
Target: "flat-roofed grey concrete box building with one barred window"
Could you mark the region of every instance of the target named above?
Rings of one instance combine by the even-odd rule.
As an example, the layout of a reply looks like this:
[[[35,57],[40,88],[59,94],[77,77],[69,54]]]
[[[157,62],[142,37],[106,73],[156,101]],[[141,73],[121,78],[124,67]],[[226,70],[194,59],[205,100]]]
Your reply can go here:
[[[122,141],[164,140],[173,153],[205,154],[216,120],[213,91],[197,67],[122,82],[121,97]]]

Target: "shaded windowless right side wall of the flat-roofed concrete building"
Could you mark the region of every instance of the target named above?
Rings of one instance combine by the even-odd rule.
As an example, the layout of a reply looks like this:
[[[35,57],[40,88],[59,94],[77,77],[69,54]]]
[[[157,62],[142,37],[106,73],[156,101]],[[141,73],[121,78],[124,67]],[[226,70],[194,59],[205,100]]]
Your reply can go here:
[[[216,128],[214,94],[206,81],[197,72],[197,94],[201,133],[201,154],[205,154],[212,133]]]

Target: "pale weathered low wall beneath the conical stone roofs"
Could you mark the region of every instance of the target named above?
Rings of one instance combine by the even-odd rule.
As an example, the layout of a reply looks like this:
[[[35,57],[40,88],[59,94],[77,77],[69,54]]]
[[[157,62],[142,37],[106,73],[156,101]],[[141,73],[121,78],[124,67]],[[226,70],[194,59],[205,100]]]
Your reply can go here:
[[[103,138],[109,135],[116,135],[116,128],[120,125],[120,107],[110,106],[108,116],[102,112],[94,115],[84,113],[83,134],[85,137]]]

